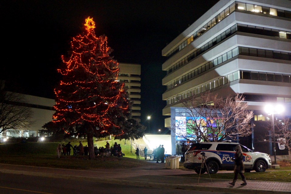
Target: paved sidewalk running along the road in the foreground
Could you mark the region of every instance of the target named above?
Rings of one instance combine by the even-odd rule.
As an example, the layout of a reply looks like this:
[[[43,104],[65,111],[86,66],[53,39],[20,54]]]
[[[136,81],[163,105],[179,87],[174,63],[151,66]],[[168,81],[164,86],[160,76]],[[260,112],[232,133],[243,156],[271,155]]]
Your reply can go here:
[[[116,184],[151,186],[159,188],[188,189],[228,193],[256,193],[256,194],[291,194],[291,182],[266,182],[247,181],[246,186],[241,186],[238,180],[236,186],[229,185],[230,180],[189,178],[176,175],[192,174],[195,172],[181,169],[167,169],[165,164],[153,162],[150,166],[132,169],[96,169],[96,170],[71,170],[54,169],[33,166],[0,165],[0,172],[27,174],[49,177],[82,177],[98,182],[112,182]],[[198,182],[199,181],[199,182]],[[289,180],[290,181],[290,180]]]

